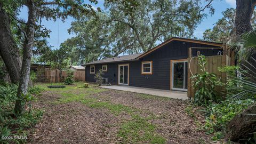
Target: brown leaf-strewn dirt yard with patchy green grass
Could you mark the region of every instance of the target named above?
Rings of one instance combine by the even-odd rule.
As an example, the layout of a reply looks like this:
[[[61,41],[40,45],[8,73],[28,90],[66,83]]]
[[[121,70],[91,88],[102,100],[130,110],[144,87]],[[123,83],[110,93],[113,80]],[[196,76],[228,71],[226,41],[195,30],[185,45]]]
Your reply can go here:
[[[203,116],[188,101],[76,83],[49,89],[34,102],[44,109],[28,143],[210,143]],[[192,112],[194,111],[194,113]]]

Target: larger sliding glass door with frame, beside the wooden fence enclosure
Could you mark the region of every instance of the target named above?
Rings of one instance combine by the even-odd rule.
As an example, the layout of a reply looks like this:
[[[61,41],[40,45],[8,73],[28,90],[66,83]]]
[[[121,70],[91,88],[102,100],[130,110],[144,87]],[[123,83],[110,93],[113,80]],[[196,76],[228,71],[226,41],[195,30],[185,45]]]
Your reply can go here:
[[[187,60],[172,60],[172,90],[187,91],[188,89],[188,61]]]

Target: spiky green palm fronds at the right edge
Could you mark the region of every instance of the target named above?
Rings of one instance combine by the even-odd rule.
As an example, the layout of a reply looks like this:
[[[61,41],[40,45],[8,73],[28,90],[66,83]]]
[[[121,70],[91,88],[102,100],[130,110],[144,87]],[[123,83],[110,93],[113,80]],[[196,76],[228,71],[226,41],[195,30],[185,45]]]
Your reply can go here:
[[[233,98],[256,100],[256,30],[244,34],[241,40],[231,45],[236,49],[239,66],[237,75],[229,75],[235,83],[230,90],[237,90]]]

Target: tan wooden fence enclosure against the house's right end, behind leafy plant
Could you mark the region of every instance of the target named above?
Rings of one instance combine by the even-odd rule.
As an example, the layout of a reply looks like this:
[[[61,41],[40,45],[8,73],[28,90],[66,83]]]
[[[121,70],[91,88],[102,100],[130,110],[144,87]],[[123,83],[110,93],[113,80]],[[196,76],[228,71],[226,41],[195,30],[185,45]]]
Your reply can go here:
[[[195,90],[193,87],[193,79],[190,77],[195,74],[202,73],[201,66],[198,65],[198,58],[197,57],[191,57],[191,48],[189,48],[189,58],[188,58],[188,97],[194,97]],[[207,61],[205,70],[209,73],[213,73],[217,75],[218,78],[221,78],[222,83],[227,82],[227,75],[226,73],[221,73],[218,71],[219,67],[225,67],[230,66],[230,57],[226,55],[226,49],[223,49],[223,55],[214,55],[205,57],[205,60]],[[192,74],[191,74],[192,73]],[[217,86],[216,87],[218,94],[221,95],[221,93],[225,90],[224,86]]]

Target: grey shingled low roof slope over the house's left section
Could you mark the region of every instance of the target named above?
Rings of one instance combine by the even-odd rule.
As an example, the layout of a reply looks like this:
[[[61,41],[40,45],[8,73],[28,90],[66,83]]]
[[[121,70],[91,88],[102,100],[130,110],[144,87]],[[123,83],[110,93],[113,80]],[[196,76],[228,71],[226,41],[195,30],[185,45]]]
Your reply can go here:
[[[94,64],[99,64],[99,63],[111,63],[111,62],[122,62],[122,61],[132,61],[136,60],[135,58],[139,57],[143,53],[136,53],[136,54],[130,54],[130,55],[122,55],[118,57],[113,57],[113,58],[106,58],[102,60],[97,60],[89,63],[85,63],[84,65],[94,65]]]

